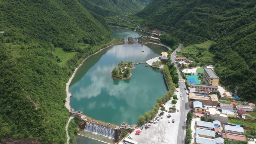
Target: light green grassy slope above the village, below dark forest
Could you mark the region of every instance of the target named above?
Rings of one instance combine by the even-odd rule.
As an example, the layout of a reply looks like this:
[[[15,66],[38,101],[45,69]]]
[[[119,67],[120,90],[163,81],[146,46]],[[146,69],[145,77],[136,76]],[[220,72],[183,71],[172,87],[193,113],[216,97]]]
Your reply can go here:
[[[208,50],[213,43],[215,42],[208,40],[204,43],[186,46],[177,54],[179,57],[186,57],[196,63],[213,64],[213,54]]]

